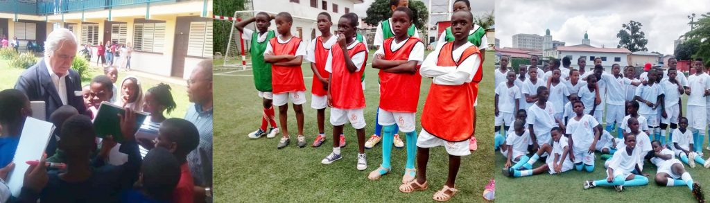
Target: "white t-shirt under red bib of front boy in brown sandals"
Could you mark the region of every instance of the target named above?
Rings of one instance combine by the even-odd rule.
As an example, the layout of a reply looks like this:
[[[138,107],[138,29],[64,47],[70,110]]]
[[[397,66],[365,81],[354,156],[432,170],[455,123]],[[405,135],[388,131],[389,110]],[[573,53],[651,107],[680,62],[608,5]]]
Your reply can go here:
[[[466,48],[469,48],[473,44],[466,42],[459,48],[452,51],[453,60],[459,60],[461,54],[464,53]],[[432,82],[435,84],[442,85],[460,85],[465,82],[471,82],[474,79],[474,75],[479,71],[479,65],[481,65],[480,57],[471,56],[467,57],[466,60],[461,62],[458,67],[456,66],[437,66],[437,61],[439,59],[439,52],[444,45],[437,45],[437,49],[429,53],[422,62],[422,67],[420,69],[420,74],[423,77],[434,77]]]

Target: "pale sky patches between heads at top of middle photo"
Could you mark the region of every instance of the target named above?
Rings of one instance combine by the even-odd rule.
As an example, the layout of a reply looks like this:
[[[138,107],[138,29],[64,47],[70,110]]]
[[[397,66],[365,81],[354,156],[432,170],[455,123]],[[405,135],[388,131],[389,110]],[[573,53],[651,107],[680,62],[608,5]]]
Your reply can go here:
[[[362,16],[363,18],[367,16],[367,8],[370,7],[370,4],[372,4],[374,0],[365,0],[364,3],[362,4],[355,4],[355,9],[354,12],[357,13],[358,16]],[[422,0],[413,0],[413,1],[422,1]],[[484,13],[491,12],[493,11],[493,0],[470,0],[471,1],[471,13],[474,13],[474,16],[481,16]],[[429,7],[429,0],[423,0],[424,4]],[[452,0],[451,2],[454,2]],[[448,11],[447,5],[449,4],[449,0],[432,0],[432,8],[430,9],[433,12],[445,12]],[[437,16],[432,16],[432,21],[440,21],[442,20],[443,16],[439,16],[439,19],[437,19]]]

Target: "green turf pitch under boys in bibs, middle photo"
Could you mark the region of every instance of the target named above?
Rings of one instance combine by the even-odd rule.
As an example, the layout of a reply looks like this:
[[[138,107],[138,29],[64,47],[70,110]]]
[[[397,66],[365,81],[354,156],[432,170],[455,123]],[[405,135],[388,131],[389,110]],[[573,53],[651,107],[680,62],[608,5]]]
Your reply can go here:
[[[371,50],[370,53],[374,53]],[[427,52],[428,53],[428,52]],[[493,53],[487,53],[484,71],[493,72]],[[372,57],[368,57],[371,61]],[[219,70],[222,60],[216,60]],[[405,165],[405,149],[393,150],[393,171],[380,180],[368,180],[367,175],[382,161],[381,143],[366,150],[368,168],[356,170],[357,140],[354,129],[346,125],[348,145],[342,150],[344,158],[331,165],[322,165],[320,160],[332,148],[329,110],[326,114],[325,132],[329,136],[320,148],[310,144],[317,135],[316,111],[310,108],[310,65],[302,65],[308,102],[304,104],[304,133],[309,143],[306,148],[295,146],[297,132],[293,107],[289,109],[289,130],[292,144],[277,150],[278,137],[273,139],[249,139],[246,135],[261,124],[261,99],[253,87],[251,70],[215,72],[214,101],[214,188],[215,202],[384,202],[397,199],[401,202],[434,202],[432,195],[443,187],[447,177],[448,156],[444,148],[430,152],[427,179],[430,188],[425,192],[404,194],[398,191]],[[366,137],[373,133],[378,104],[377,70],[369,65],[366,69]],[[431,79],[422,80],[417,124]],[[478,128],[476,135],[479,149],[461,159],[457,177],[459,192],[452,202],[483,202],[481,194],[488,180],[493,177],[493,78],[487,77],[479,89]],[[278,113],[277,113],[278,114]],[[452,126],[455,127],[455,126]],[[421,126],[417,125],[417,133]],[[403,135],[400,133],[400,135]],[[404,138],[404,136],[401,136]]]

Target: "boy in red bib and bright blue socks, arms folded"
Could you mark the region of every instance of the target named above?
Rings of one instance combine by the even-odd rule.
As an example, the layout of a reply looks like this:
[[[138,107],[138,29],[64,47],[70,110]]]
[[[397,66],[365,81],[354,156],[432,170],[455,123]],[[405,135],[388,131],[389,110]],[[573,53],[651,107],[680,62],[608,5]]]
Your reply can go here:
[[[408,35],[405,28],[411,26],[415,16],[407,7],[399,7],[392,13],[395,36],[385,39],[375,52],[372,67],[379,69],[380,108],[378,122],[383,126],[382,165],[370,172],[368,178],[376,180],[391,170],[390,159],[395,126],[406,133],[407,165],[402,182],[414,180],[417,152],[416,113],[422,76],[419,67],[424,60],[424,43]]]

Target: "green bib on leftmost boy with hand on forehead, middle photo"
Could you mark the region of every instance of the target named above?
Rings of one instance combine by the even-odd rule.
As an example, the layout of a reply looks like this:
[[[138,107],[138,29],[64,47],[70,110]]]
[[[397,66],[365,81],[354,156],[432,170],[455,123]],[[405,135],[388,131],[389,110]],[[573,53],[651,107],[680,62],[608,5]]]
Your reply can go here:
[[[251,49],[249,50],[251,54],[251,71],[254,75],[254,86],[256,86],[256,90],[261,92],[271,92],[273,90],[271,88],[271,63],[264,62],[264,52],[268,41],[275,36],[273,31],[268,31],[266,40],[259,43],[258,33],[254,31],[251,34]]]

